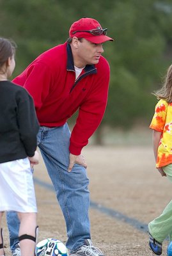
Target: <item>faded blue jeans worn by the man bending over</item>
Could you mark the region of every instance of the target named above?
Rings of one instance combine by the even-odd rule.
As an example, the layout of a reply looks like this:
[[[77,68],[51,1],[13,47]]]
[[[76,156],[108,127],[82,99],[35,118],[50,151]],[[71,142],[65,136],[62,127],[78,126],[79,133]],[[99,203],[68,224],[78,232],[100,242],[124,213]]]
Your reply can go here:
[[[66,247],[74,251],[84,244],[84,239],[90,239],[88,216],[90,192],[88,191],[89,180],[86,175],[86,168],[75,164],[72,172],[68,173],[67,171],[70,143],[70,130],[67,124],[54,128],[42,126],[37,139],[38,147],[66,221],[68,236]],[[10,246],[13,250],[15,244],[18,243],[19,232],[19,220],[15,212],[7,212],[7,223]]]

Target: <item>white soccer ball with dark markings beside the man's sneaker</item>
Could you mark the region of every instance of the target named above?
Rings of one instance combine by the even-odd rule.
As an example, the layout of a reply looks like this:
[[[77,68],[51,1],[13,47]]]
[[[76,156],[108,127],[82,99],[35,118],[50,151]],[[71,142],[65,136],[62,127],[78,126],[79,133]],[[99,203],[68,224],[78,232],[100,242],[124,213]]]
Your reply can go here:
[[[47,238],[36,244],[36,256],[68,256],[67,248],[61,241]]]

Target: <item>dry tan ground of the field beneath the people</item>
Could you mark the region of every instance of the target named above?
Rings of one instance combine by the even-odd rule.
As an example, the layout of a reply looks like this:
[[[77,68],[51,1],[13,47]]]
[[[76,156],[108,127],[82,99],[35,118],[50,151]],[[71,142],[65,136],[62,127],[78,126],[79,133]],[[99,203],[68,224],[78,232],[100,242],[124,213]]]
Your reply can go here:
[[[91,202],[100,209],[118,212],[119,217],[147,225],[159,216],[171,200],[171,184],[155,169],[152,146],[145,147],[95,147],[84,148],[82,154],[88,163]],[[43,162],[35,167],[34,176],[51,184]],[[38,241],[47,237],[65,243],[66,228],[63,215],[56,202],[55,193],[35,184],[38,202]],[[123,214],[123,215],[120,215]],[[134,222],[116,218],[107,212],[90,207],[91,239],[106,256],[152,255],[148,248],[145,229],[136,228]],[[8,229],[3,218],[6,255],[10,255]],[[163,243],[166,255],[168,241]]]

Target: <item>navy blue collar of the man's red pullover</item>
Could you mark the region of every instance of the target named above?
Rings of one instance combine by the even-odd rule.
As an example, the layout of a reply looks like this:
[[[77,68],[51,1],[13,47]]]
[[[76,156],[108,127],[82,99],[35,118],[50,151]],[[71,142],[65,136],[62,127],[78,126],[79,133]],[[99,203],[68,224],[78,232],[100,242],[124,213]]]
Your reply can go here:
[[[75,71],[74,59],[73,59],[72,49],[70,47],[70,44],[67,44],[66,50],[67,50],[67,70]],[[95,65],[86,65],[86,67],[84,67],[84,71],[85,72],[92,71],[91,74],[93,73],[95,74],[97,73],[97,68],[95,67]]]

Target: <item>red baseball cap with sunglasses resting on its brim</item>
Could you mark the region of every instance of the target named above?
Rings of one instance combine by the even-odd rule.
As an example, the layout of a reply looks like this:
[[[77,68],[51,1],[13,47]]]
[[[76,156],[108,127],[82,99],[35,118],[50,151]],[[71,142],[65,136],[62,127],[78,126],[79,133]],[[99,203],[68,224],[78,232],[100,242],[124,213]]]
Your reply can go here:
[[[102,29],[97,20],[82,18],[75,21],[69,29],[70,38],[77,36],[85,38],[94,44],[102,44],[106,41],[113,41],[113,38],[106,35],[107,29]]]

